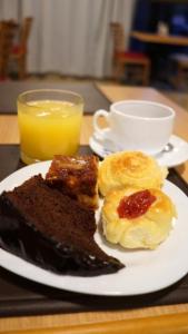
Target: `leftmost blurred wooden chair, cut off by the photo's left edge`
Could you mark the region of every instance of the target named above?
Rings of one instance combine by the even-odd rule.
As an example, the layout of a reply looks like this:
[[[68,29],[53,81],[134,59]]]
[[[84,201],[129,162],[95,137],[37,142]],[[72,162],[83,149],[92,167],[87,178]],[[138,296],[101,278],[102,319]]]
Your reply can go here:
[[[0,79],[8,77],[9,58],[17,31],[17,24],[10,21],[0,22]]]

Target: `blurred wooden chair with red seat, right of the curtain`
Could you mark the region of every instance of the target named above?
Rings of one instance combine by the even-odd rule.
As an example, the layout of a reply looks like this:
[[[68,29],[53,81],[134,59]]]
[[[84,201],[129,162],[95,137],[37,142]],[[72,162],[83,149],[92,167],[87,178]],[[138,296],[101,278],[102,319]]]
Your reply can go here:
[[[150,77],[150,60],[141,52],[125,51],[125,32],[122,24],[111,22],[110,29],[113,38],[113,77],[120,80],[125,76],[126,67],[137,67],[137,78],[147,86]]]

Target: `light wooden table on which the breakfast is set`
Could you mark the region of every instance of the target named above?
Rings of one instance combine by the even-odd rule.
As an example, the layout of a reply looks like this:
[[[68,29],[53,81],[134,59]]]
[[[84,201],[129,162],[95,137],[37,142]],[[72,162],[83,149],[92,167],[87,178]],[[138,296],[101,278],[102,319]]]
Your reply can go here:
[[[111,100],[146,99],[166,104],[176,110],[175,134],[188,140],[188,112],[151,88],[99,85]],[[86,116],[81,144],[92,134],[92,117]],[[0,144],[19,143],[17,116],[0,116]],[[188,161],[177,167],[188,181]],[[184,332],[185,331],[185,332]],[[142,307],[120,312],[88,312],[48,316],[0,318],[0,333],[92,334],[92,333],[187,333],[188,304]]]

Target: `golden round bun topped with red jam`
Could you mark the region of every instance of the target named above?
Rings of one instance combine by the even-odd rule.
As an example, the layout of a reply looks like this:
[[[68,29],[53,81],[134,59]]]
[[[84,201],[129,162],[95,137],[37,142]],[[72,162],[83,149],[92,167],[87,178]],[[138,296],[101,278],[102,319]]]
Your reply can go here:
[[[168,237],[174,217],[176,208],[171,199],[154,188],[110,191],[102,206],[107,240],[126,248],[156,248]]]

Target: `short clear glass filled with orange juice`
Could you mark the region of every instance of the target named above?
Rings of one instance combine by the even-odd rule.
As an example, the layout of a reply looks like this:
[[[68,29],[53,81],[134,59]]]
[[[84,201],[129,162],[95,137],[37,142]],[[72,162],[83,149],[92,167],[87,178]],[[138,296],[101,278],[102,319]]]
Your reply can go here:
[[[18,96],[21,159],[26,164],[75,155],[80,143],[83,99],[57,89],[38,89]]]

